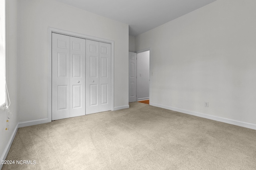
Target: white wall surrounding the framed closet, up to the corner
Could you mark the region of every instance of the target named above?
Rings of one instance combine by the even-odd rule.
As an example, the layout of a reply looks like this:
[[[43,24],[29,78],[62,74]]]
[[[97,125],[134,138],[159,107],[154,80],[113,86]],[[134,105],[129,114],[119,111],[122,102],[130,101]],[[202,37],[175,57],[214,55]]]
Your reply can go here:
[[[19,121],[48,117],[48,27],[114,41],[114,107],[128,106],[128,25],[55,0],[18,8]]]

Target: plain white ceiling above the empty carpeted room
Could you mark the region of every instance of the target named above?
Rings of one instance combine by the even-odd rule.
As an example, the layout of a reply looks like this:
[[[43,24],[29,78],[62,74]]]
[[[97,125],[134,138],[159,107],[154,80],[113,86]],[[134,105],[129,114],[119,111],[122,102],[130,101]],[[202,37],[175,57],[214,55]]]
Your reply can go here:
[[[216,0],[57,0],[127,23],[136,36]]]

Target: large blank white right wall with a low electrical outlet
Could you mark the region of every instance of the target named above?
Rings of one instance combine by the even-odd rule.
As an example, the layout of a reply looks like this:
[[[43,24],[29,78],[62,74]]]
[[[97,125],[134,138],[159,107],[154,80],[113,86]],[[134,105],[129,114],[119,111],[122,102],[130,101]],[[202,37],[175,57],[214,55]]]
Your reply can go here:
[[[136,36],[136,51],[152,48],[151,102],[255,127],[255,9],[217,0]]]

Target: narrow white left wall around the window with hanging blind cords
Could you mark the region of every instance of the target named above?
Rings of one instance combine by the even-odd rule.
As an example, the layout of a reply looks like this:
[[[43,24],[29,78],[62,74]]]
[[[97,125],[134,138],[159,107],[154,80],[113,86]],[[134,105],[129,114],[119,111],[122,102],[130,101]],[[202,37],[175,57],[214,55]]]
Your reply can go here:
[[[17,0],[6,0],[6,74],[8,91],[11,100],[9,131],[6,131],[6,111],[0,111],[0,160],[4,159],[4,150],[12,139],[18,123],[17,116]],[[0,169],[2,165],[0,164]]]

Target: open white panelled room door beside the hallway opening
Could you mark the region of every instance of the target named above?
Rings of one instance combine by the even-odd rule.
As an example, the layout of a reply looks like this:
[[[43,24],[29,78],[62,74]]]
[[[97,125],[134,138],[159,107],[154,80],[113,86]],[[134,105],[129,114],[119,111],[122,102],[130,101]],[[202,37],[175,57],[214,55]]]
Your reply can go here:
[[[137,102],[137,54],[129,52],[129,102]]]

